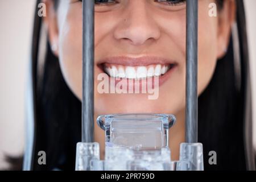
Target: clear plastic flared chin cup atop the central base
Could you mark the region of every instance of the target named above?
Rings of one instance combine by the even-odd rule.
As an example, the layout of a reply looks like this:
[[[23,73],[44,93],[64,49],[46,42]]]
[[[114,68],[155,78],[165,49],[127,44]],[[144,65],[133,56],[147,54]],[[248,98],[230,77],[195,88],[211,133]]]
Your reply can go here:
[[[106,146],[155,150],[168,146],[168,129],[175,123],[170,114],[115,114],[97,118],[105,130]]]

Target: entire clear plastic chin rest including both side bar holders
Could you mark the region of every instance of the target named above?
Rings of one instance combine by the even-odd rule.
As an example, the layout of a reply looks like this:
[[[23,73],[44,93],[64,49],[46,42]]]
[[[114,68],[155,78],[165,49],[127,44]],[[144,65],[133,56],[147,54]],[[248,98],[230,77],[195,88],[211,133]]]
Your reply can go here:
[[[105,160],[98,143],[77,143],[77,171],[200,171],[201,143],[181,143],[180,159],[171,161],[168,129],[170,114],[114,114],[97,118],[105,130]]]

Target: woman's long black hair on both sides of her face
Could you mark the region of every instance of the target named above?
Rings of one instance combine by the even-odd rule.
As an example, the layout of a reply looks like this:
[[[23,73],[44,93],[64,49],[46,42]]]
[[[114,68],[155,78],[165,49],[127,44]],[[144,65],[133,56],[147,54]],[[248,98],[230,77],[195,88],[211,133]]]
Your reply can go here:
[[[199,97],[199,142],[204,146],[205,170],[254,168],[245,12],[243,1],[236,2],[237,27],[226,55],[217,61],[213,78]],[[28,148],[32,155],[25,152],[32,160],[24,162],[35,170],[73,170],[76,143],[81,138],[81,102],[64,81],[41,21],[36,15],[31,57],[35,132],[30,136],[33,147]],[[42,45],[43,40],[46,44]],[[46,165],[38,164],[38,151],[46,151]],[[217,165],[209,165],[209,151],[216,151]]]

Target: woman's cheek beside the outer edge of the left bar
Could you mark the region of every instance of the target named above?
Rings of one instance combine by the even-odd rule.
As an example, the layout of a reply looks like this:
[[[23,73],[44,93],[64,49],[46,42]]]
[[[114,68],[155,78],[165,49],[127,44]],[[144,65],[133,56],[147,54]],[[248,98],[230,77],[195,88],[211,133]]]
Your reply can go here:
[[[68,13],[59,32],[59,60],[65,81],[72,92],[82,96],[82,18]]]

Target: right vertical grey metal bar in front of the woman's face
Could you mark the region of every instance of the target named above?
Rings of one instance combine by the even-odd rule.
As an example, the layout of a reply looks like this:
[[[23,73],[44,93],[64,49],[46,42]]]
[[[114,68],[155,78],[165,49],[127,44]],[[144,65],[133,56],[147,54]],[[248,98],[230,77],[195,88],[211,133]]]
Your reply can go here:
[[[198,0],[187,1],[186,131],[187,143],[197,143]]]

